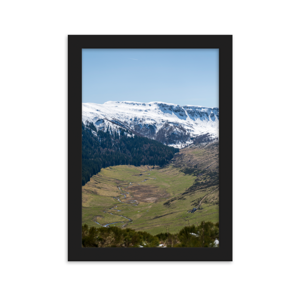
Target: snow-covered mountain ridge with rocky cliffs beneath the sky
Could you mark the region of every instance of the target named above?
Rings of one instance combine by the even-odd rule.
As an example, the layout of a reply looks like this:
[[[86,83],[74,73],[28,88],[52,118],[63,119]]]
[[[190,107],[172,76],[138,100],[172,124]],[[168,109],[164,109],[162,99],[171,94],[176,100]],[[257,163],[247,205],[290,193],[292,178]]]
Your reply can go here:
[[[218,107],[131,101],[82,103],[82,121],[86,120],[98,130],[106,130],[108,125],[113,131],[124,128],[179,148],[195,140],[219,137]]]

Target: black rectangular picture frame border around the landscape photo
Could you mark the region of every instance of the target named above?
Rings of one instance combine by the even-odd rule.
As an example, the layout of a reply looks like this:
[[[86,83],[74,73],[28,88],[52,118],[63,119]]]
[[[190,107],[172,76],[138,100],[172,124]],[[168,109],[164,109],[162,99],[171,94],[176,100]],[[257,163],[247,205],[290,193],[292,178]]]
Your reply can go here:
[[[219,49],[219,248],[82,248],[83,48]],[[232,261],[232,35],[68,35],[68,261]]]

